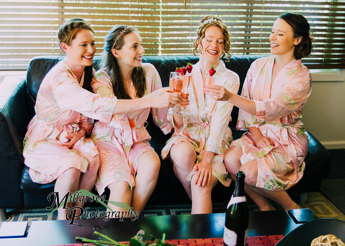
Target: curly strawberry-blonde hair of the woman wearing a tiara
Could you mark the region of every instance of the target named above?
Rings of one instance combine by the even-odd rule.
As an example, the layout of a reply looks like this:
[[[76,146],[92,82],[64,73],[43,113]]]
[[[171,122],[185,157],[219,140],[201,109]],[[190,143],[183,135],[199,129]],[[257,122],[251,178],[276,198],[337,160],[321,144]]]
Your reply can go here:
[[[223,23],[223,21],[220,18],[215,17],[213,15],[207,15],[200,20],[200,25],[197,28],[197,37],[193,44],[194,45],[193,54],[196,56],[196,52],[201,52],[200,51],[202,50],[201,40],[205,37],[206,28],[211,25],[219,27],[222,34],[224,35],[224,49],[222,51],[220,58],[223,58],[225,56],[228,61],[231,56],[229,53],[230,45],[231,45],[229,30],[227,29],[226,25]],[[198,41],[200,43],[199,50],[197,48]]]

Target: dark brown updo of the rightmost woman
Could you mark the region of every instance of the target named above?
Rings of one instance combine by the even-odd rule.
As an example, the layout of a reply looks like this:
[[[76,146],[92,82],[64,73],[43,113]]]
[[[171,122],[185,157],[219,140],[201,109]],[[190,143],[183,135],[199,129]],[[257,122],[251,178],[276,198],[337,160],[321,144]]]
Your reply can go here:
[[[284,13],[278,18],[291,26],[293,38],[302,37],[299,44],[294,45],[294,56],[297,59],[309,56],[312,52],[312,38],[310,38],[310,26],[306,18],[298,13]]]

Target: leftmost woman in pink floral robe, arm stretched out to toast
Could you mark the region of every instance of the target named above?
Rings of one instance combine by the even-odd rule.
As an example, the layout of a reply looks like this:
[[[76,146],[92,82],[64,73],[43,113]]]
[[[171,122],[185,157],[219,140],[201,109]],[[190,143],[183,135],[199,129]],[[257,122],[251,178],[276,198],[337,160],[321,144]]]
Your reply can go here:
[[[171,105],[163,98],[118,100],[102,98],[83,89],[92,76],[96,51],[93,29],[83,19],[73,18],[61,25],[58,40],[66,57],[45,75],[37,92],[35,116],[23,141],[24,163],[33,182],[54,180],[54,191],[62,199],[69,192],[90,191],[95,182],[99,157],[92,140],[86,137],[93,119],[109,123],[114,114],[135,112],[149,106]],[[89,74],[90,73],[90,74]],[[86,86],[85,86],[86,84]],[[178,98],[171,100],[175,104]],[[82,207],[68,202],[67,209]],[[67,209],[59,208],[58,219],[66,219]]]

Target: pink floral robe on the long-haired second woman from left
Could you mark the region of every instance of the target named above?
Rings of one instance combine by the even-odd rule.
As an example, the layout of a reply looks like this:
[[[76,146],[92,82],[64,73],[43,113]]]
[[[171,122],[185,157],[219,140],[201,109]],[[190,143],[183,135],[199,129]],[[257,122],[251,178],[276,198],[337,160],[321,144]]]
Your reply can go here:
[[[146,78],[145,95],[161,88],[159,74],[150,63],[142,63]],[[104,69],[94,75],[92,81],[94,92],[102,97],[113,97],[114,93],[110,77]],[[133,85],[130,96],[136,98]],[[105,187],[117,182],[128,182],[130,188],[135,186],[135,174],[138,161],[146,151],[153,151],[149,144],[149,136],[144,124],[151,111],[153,120],[164,134],[171,131],[171,123],[167,121],[167,109],[145,109],[135,119],[128,120],[126,114],[114,115],[108,124],[96,122],[91,139],[99,151],[99,170],[96,178],[96,188],[101,195]]]

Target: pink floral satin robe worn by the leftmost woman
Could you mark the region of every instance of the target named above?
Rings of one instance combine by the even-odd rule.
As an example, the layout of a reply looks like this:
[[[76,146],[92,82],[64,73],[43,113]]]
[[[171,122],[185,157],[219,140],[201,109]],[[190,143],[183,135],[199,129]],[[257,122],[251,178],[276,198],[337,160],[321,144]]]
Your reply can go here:
[[[24,163],[32,181],[50,183],[71,167],[85,172],[88,162],[80,153],[98,154],[91,139],[82,137],[71,149],[59,144],[79,127],[90,133],[93,119],[110,122],[116,102],[83,89],[66,60],[51,68],[39,87],[36,114],[23,141]]]

